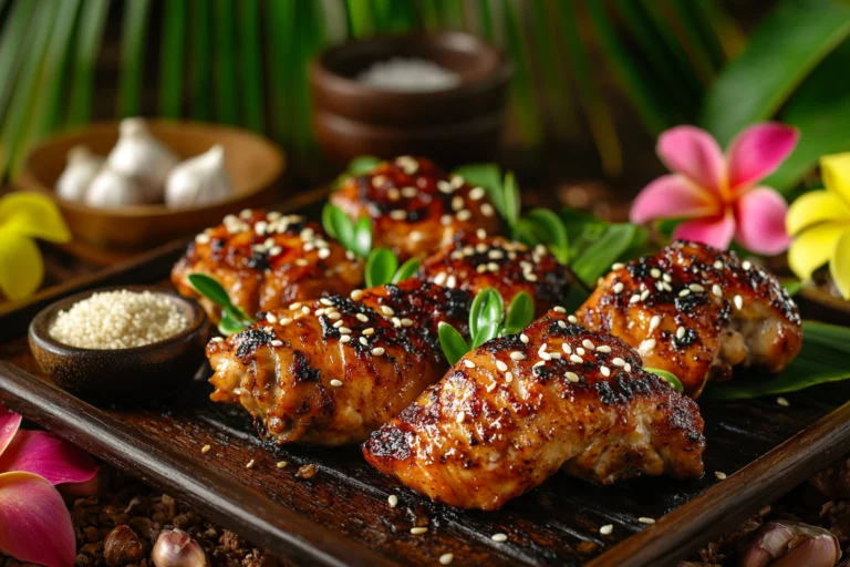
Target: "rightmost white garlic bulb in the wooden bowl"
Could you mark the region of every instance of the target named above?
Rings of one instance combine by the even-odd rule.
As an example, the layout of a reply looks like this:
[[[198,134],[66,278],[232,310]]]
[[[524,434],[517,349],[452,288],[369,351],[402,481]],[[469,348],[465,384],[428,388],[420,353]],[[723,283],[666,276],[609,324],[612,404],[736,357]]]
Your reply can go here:
[[[175,208],[212,205],[226,200],[232,193],[232,183],[225,171],[225,148],[215,145],[172,171],[165,184],[165,204]]]

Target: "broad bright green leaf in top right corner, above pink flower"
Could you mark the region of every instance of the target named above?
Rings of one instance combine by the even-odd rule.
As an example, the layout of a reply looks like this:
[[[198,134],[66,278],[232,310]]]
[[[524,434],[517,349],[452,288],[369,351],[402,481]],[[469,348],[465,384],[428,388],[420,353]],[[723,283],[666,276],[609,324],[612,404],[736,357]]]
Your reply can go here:
[[[712,85],[702,124],[726,144],[748,124],[770,118],[848,34],[850,3],[780,1]]]

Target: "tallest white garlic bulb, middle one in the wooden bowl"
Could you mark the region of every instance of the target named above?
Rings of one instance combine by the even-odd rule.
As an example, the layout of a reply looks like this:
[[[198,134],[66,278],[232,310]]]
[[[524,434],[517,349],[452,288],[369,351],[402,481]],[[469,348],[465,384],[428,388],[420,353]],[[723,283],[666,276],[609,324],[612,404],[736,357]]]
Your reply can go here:
[[[118,143],[107,157],[115,172],[138,182],[148,193],[147,202],[163,199],[165,179],[177,165],[177,156],[147,130],[142,118],[121,121]]]

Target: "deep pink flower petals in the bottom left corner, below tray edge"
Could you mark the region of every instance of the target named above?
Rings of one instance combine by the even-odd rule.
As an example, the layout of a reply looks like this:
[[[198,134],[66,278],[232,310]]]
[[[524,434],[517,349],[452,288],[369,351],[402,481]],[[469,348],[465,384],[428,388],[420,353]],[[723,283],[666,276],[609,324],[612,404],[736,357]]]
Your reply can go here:
[[[70,443],[20,425],[21,416],[0,405],[0,550],[24,563],[71,567],[76,538],[54,485],[91,481],[97,464]]]

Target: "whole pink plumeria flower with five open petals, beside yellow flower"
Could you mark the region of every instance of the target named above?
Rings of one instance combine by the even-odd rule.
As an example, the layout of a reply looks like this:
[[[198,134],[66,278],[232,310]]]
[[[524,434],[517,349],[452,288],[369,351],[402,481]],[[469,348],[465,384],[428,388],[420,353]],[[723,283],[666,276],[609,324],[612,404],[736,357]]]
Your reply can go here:
[[[632,223],[685,218],[673,238],[726,249],[733,238],[757,254],[788,248],[788,204],[758,182],[770,175],[797,145],[796,128],[776,122],[740,132],[724,155],[711,134],[676,126],[659,137],[655,152],[672,174],[659,177],[638,195]]]

